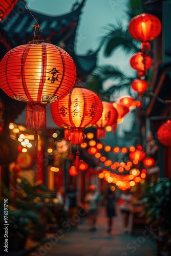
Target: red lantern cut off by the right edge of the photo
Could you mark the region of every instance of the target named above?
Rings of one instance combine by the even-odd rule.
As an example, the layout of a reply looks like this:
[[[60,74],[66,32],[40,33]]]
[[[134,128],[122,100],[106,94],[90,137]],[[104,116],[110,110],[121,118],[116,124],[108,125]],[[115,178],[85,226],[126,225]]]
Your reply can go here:
[[[167,120],[159,127],[157,138],[164,146],[171,146],[171,120]]]

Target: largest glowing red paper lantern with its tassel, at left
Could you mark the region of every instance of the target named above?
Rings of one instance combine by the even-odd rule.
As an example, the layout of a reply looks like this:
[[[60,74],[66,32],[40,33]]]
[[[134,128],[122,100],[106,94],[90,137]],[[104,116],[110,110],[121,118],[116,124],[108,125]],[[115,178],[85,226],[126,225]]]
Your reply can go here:
[[[34,129],[46,127],[46,105],[65,97],[76,80],[71,56],[47,42],[15,47],[5,54],[0,68],[1,89],[28,103],[26,125]]]

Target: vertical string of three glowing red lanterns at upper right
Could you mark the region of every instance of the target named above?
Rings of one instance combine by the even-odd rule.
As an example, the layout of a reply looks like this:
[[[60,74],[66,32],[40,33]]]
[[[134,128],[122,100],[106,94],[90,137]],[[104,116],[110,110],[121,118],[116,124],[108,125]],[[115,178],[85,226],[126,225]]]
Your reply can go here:
[[[141,13],[130,20],[129,32],[131,36],[141,41],[141,51],[134,54],[130,59],[130,65],[137,70],[138,79],[131,83],[134,91],[140,96],[147,90],[148,84],[142,77],[147,75],[147,70],[152,66],[152,58],[146,53],[151,51],[150,42],[161,33],[162,25],[160,19],[152,14]]]

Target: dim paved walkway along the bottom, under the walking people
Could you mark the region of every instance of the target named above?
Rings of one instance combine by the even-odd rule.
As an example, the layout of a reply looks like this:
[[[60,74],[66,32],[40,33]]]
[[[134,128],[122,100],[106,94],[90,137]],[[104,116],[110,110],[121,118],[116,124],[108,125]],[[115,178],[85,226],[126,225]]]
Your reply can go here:
[[[104,208],[100,208],[96,231],[89,231],[88,219],[81,218],[77,229],[70,230],[70,225],[66,226],[66,231],[58,231],[56,239],[49,237],[51,242],[39,246],[29,256],[156,256],[152,231],[144,226],[141,234],[124,234],[121,215],[117,211],[110,234],[106,231]]]

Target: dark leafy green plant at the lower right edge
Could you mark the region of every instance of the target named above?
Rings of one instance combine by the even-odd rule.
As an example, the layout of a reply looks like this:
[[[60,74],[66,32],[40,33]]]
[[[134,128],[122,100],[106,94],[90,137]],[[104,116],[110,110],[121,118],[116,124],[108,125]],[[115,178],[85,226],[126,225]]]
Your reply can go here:
[[[171,179],[160,178],[146,187],[147,223],[152,224],[158,250],[171,253]],[[170,255],[170,254],[169,254]]]

